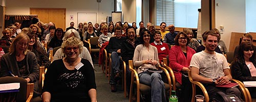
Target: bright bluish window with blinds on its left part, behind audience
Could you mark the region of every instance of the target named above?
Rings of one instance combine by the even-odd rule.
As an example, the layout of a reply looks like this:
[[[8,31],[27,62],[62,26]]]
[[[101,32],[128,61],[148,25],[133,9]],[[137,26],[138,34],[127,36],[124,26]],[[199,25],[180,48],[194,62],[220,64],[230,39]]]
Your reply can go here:
[[[201,0],[156,0],[156,24],[166,22],[175,27],[197,28]]]

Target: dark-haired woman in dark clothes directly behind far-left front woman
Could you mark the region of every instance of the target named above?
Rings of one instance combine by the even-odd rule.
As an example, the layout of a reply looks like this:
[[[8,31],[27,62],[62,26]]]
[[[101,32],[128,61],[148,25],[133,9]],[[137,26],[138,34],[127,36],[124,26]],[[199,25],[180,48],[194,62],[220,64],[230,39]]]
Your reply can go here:
[[[35,33],[31,32],[27,35],[29,36],[28,49],[36,55],[37,64],[39,66],[45,66],[46,68],[49,68],[51,62],[46,55],[45,49],[38,45]]]

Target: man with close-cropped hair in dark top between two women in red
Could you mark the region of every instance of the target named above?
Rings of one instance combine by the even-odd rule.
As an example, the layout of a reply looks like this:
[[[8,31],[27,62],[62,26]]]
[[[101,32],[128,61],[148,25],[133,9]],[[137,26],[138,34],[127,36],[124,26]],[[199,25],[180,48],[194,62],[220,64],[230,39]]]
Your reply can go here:
[[[165,34],[165,36],[163,37],[163,42],[169,43],[170,45],[175,45],[174,39],[178,33],[175,32],[174,24],[170,24],[168,26],[168,29],[170,32]]]

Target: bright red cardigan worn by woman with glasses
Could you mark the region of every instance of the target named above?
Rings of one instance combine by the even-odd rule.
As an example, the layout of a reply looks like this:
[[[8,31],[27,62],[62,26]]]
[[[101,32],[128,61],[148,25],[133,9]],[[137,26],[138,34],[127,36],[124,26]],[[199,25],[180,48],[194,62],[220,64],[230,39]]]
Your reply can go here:
[[[178,45],[173,46],[169,50],[169,66],[173,69],[175,80],[182,84],[181,70],[184,67],[189,67],[192,56],[195,54],[195,50],[187,46],[187,58],[183,54],[181,47]]]

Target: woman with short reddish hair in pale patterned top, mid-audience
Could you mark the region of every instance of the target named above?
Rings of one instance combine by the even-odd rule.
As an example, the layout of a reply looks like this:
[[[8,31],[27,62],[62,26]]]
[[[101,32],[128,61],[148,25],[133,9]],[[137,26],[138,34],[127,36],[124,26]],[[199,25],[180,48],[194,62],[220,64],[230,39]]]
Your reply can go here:
[[[112,34],[108,33],[108,25],[106,24],[102,25],[101,30],[103,31],[103,34],[99,36],[99,40],[98,40],[100,46],[106,41],[109,41],[110,38],[112,37]]]

